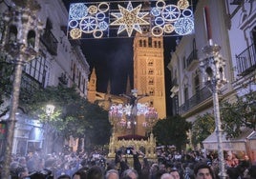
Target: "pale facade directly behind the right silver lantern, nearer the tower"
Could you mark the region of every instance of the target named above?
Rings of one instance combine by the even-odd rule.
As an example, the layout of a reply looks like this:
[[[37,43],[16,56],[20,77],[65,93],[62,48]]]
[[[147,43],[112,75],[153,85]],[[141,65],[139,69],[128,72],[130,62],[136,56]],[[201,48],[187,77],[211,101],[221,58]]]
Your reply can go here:
[[[198,114],[212,113],[212,93],[203,84],[199,62],[205,58],[203,47],[208,45],[204,23],[203,8],[209,7],[214,44],[221,46],[220,53],[225,59],[224,73],[228,83],[222,89],[222,98],[232,92],[232,61],[229,48],[228,31],[224,22],[224,3],[222,1],[199,1],[195,10],[195,33],[183,36],[172,53],[168,69],[171,70],[173,112],[181,114],[193,122]],[[214,26],[213,26],[214,25]]]

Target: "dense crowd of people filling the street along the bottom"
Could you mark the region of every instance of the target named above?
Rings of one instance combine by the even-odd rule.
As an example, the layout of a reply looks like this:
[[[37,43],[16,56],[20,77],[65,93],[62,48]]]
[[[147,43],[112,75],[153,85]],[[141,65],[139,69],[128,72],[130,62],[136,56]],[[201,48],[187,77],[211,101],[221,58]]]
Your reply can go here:
[[[103,153],[70,152],[49,154],[43,158],[33,152],[13,155],[11,179],[218,179],[218,157],[200,151],[158,150],[158,160],[149,160],[141,150],[129,153],[119,149],[115,159]],[[256,165],[239,160],[233,153],[225,157],[227,178],[256,179]]]

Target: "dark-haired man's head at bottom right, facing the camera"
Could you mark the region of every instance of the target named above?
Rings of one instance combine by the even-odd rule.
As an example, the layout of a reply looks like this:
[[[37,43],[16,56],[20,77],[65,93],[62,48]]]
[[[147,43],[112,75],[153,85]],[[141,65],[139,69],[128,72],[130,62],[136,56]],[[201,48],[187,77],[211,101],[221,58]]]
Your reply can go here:
[[[215,174],[206,163],[199,163],[194,169],[195,179],[215,179]]]

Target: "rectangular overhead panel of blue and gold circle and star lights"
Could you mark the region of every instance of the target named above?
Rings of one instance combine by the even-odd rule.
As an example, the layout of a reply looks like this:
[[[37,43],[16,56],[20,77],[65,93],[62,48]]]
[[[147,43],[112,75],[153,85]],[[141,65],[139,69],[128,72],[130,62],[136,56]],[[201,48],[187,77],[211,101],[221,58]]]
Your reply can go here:
[[[156,37],[186,35],[194,31],[191,9],[188,0],[74,3],[69,9],[68,37],[132,37],[145,29]]]

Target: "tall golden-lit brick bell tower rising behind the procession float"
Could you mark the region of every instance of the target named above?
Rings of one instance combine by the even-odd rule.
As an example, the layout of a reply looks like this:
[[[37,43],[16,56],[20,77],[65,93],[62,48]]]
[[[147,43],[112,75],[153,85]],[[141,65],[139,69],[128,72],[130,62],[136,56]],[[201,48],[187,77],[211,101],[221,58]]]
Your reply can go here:
[[[148,94],[139,103],[148,102],[166,117],[163,38],[137,33],[134,39],[134,89],[141,95]]]

